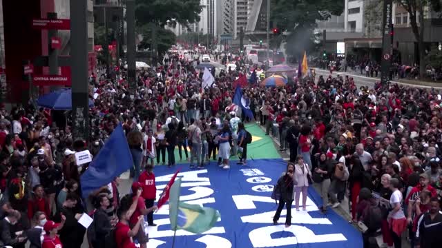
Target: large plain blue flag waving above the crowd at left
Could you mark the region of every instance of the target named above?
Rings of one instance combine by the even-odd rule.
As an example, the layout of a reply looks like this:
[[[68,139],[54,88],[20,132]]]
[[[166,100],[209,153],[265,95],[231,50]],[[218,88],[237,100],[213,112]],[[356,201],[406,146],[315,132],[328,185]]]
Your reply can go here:
[[[80,177],[83,197],[86,198],[93,190],[111,183],[115,177],[131,167],[133,167],[132,154],[123,126],[119,124]]]

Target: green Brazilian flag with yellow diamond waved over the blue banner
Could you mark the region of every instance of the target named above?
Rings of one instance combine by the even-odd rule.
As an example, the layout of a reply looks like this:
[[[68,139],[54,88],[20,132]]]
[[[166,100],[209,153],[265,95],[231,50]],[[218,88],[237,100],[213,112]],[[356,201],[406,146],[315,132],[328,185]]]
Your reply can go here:
[[[180,187],[181,178],[178,178],[171,187],[169,198],[172,230],[184,229],[193,234],[202,234],[211,229],[220,218],[218,210],[180,202]]]

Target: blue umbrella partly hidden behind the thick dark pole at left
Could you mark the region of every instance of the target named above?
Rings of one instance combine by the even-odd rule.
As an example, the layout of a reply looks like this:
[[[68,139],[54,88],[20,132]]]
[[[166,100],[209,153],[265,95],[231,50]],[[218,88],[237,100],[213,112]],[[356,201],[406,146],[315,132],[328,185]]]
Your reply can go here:
[[[51,110],[72,110],[72,90],[62,89],[40,96],[37,105]],[[89,99],[89,107],[94,103]]]

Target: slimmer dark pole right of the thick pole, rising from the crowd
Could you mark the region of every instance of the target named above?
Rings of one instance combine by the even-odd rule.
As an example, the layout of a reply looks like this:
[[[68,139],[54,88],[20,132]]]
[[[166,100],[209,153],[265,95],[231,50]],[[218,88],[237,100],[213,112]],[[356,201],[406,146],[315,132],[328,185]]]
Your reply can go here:
[[[72,1],[72,0],[71,0]],[[127,19],[127,75],[129,83],[129,92],[135,96],[137,89],[136,68],[135,68],[135,1],[126,1],[126,19]],[[152,65],[153,66],[153,65]]]

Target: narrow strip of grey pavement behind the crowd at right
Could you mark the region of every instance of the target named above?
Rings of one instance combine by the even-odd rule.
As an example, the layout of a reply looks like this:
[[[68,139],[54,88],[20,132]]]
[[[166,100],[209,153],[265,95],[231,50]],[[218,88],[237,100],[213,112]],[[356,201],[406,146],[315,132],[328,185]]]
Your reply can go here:
[[[320,68],[314,68],[314,70],[316,70],[316,72],[320,72],[320,74],[329,74],[330,71],[329,70],[323,70]],[[339,74],[339,75],[348,75],[348,76],[353,76],[354,78],[360,78],[360,79],[365,79],[365,80],[372,80],[373,82],[375,81],[380,81],[381,77],[380,74],[378,74],[378,76],[365,76],[365,74],[361,74],[361,72],[357,72],[357,71],[347,71],[347,72],[343,72],[343,71],[334,71],[334,74]],[[436,89],[441,89],[442,90],[442,82],[438,83],[438,82],[432,82],[432,81],[419,81],[419,80],[414,80],[414,79],[394,79],[392,81],[390,81],[391,83],[397,83],[399,85],[404,85],[404,86],[409,86],[409,87],[424,87],[424,88],[430,88],[430,87],[434,87]]]

